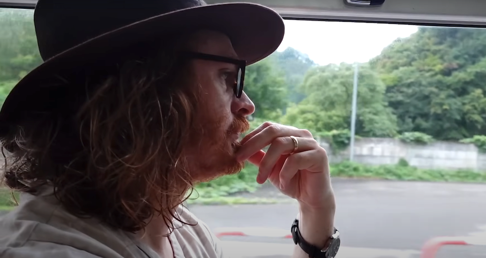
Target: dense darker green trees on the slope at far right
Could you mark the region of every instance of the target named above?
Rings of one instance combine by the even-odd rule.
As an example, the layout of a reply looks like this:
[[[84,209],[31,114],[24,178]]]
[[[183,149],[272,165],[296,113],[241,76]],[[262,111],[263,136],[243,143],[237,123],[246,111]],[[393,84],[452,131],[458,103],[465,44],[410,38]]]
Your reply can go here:
[[[484,29],[422,27],[371,61],[400,133],[441,140],[486,134],[484,42]]]

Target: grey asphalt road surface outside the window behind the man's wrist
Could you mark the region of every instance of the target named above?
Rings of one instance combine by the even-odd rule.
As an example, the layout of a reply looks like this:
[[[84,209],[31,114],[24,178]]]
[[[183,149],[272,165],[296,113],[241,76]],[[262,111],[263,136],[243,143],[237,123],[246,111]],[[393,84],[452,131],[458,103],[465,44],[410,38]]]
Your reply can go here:
[[[486,185],[335,179],[337,258],[418,258],[437,236],[476,236],[486,243]],[[278,196],[272,188],[260,196]],[[289,230],[295,202],[275,205],[190,206],[212,229],[271,227]],[[290,231],[289,231],[290,232]],[[232,257],[290,257],[292,240],[222,238]],[[289,255],[287,255],[289,254]],[[486,257],[486,246],[447,246],[437,258]]]

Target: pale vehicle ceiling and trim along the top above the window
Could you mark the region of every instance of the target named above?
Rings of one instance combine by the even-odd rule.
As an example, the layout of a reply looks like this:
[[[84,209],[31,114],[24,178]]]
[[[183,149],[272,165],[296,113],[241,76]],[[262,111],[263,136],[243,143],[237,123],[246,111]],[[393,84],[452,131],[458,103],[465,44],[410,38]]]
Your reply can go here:
[[[208,3],[241,1],[206,0]],[[483,0],[246,1],[269,6],[287,19],[486,27],[486,1]],[[36,2],[37,0],[0,0],[0,7],[33,9]]]

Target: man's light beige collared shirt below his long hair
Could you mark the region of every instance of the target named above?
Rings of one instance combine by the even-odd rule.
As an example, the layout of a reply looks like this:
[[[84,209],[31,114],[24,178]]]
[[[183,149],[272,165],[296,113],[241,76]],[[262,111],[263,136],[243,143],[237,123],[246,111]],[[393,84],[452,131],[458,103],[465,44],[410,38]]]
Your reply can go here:
[[[170,238],[176,258],[223,258],[219,240],[186,208]],[[177,224],[178,223],[178,224]],[[159,258],[135,235],[66,212],[52,195],[22,194],[20,206],[0,217],[0,258]]]

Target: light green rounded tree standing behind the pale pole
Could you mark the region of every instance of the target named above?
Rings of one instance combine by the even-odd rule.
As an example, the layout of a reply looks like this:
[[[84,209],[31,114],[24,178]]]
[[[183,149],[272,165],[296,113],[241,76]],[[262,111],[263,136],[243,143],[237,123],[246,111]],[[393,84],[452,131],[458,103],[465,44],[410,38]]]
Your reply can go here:
[[[316,132],[349,128],[353,65],[327,65],[311,69],[300,90],[308,97],[288,108],[283,121]],[[368,137],[396,135],[396,118],[384,101],[385,86],[368,65],[358,76],[356,133]]]

